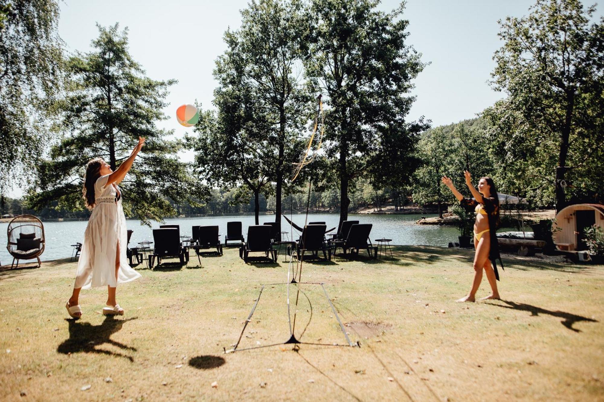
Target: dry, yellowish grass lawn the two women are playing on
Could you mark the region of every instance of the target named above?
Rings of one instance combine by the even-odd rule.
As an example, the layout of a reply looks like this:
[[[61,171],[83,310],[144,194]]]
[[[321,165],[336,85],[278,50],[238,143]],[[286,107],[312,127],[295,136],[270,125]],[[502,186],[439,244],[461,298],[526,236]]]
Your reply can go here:
[[[82,291],[79,321],[64,307],[76,263],[2,270],[0,400],[604,400],[604,266],[504,256],[504,300],[458,304],[472,257],[400,246],[377,261],[304,261],[303,280],[324,283],[361,347],[228,354],[261,284],[286,282],[283,254],[167,260],[118,287],[124,316],[101,315],[106,289]],[[321,286],[300,290],[298,339],[345,345]],[[288,340],[286,291],[265,287],[238,348]],[[484,278],[477,296],[488,293]]]

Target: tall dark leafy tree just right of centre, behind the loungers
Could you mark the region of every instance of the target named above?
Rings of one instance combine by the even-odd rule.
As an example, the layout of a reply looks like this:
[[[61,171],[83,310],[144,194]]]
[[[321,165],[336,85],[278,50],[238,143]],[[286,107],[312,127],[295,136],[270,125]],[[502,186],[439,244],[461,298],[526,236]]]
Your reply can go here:
[[[377,11],[378,3],[312,0],[310,5],[316,18],[304,66],[330,108],[325,152],[338,173],[340,222],[348,216],[351,181],[378,168],[370,156],[388,145],[409,148],[414,134],[426,128],[405,121],[414,101],[408,95],[411,80],[425,65],[405,44],[404,3],[391,13]]]

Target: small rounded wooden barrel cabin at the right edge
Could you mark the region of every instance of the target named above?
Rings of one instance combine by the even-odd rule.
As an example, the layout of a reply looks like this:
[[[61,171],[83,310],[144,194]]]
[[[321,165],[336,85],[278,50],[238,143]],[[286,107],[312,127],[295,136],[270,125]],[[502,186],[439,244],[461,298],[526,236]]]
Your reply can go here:
[[[583,229],[597,225],[604,229],[604,205],[575,204],[556,214],[553,240],[557,249],[565,251],[585,250]],[[557,230],[556,230],[557,228]]]

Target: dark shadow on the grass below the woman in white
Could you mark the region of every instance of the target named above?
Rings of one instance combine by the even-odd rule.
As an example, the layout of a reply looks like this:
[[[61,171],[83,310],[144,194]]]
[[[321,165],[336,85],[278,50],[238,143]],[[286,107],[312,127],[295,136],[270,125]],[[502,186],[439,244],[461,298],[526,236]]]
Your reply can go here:
[[[137,317],[128,319],[115,319],[113,316],[107,316],[101,325],[92,325],[89,322],[78,322],[73,319],[65,319],[69,323],[69,339],[66,339],[57,347],[57,352],[63,354],[70,353],[101,353],[109,356],[124,357],[130,362],[134,362],[132,356],[126,354],[114,353],[98,346],[108,343],[117,346],[120,349],[137,351],[136,348],[124,345],[123,343],[109,339],[112,334],[121,330],[124,322],[135,320]]]

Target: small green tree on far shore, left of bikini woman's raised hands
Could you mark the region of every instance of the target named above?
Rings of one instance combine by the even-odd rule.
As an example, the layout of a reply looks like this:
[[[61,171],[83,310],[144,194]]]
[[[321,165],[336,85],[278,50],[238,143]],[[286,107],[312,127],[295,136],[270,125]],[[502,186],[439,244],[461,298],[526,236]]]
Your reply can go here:
[[[414,174],[415,190],[413,200],[417,203],[436,202],[439,217],[443,217],[443,193],[440,179],[448,173],[448,155],[452,144],[441,129],[432,130],[429,137],[423,138],[418,145],[423,165]],[[449,173],[450,174],[450,173]]]

